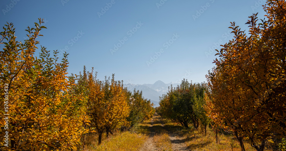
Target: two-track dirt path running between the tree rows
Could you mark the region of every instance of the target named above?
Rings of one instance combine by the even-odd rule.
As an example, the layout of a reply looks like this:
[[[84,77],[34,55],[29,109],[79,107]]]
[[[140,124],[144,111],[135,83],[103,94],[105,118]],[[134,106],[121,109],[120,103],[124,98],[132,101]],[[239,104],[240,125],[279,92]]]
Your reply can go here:
[[[156,124],[156,126],[153,126],[154,124]],[[164,125],[165,124],[162,121],[162,118],[157,113],[155,113],[152,117],[152,120],[150,121],[149,138],[144,143],[140,151],[160,151],[160,148],[156,148],[154,143],[154,136],[159,133],[158,129],[164,129],[168,132],[173,151],[188,151],[188,148],[185,144],[185,138],[180,136],[177,132],[171,132],[168,128],[164,127]]]

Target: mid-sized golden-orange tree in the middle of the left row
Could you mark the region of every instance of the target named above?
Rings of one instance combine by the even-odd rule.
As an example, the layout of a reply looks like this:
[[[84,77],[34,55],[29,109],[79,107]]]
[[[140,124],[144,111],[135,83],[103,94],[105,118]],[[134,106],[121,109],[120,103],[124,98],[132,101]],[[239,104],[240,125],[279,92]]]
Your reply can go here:
[[[86,73],[84,72],[84,75]],[[91,127],[98,133],[98,144],[101,144],[102,134],[106,136],[116,128],[127,123],[129,106],[126,101],[122,81],[105,77],[104,81],[96,79],[97,73],[88,73],[88,114],[92,118]]]

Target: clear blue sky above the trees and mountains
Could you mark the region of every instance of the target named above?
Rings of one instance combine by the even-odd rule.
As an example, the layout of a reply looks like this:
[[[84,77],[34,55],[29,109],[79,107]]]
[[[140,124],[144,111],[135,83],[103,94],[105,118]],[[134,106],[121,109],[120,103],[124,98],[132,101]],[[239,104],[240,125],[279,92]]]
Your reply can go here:
[[[23,41],[27,26],[45,19],[40,45],[69,53],[69,73],[85,65],[101,80],[114,73],[132,84],[203,82],[216,58],[210,48],[232,39],[230,22],[248,31],[249,16],[264,18],[265,1],[1,0],[0,24],[13,23]]]

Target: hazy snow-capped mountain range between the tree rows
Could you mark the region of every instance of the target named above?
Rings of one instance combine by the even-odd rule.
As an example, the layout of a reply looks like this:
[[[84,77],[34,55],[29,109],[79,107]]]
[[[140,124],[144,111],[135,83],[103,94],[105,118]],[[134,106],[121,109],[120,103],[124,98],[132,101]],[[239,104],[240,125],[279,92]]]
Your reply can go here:
[[[124,87],[127,87],[127,89],[131,92],[133,92],[134,88],[136,90],[141,91],[144,98],[150,99],[151,102],[154,103],[154,107],[159,106],[159,96],[162,96],[163,94],[167,94],[168,87],[169,86],[176,87],[180,83],[164,83],[161,80],[156,81],[154,84],[124,84]]]

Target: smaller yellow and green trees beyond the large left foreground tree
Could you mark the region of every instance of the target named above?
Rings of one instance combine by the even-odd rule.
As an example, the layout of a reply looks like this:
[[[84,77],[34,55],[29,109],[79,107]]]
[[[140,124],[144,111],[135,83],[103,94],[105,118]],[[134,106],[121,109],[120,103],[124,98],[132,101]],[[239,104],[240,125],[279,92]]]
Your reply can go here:
[[[142,91],[128,91],[123,87],[123,81],[105,77],[104,81],[96,79],[92,72],[86,72],[84,67],[83,75],[80,74],[77,85],[79,89],[86,89],[87,113],[91,117],[91,124],[88,125],[93,132],[98,134],[98,143],[101,143],[102,134],[106,137],[112,134],[113,130],[121,127],[127,129],[149,119],[154,114],[153,103],[142,96]]]

